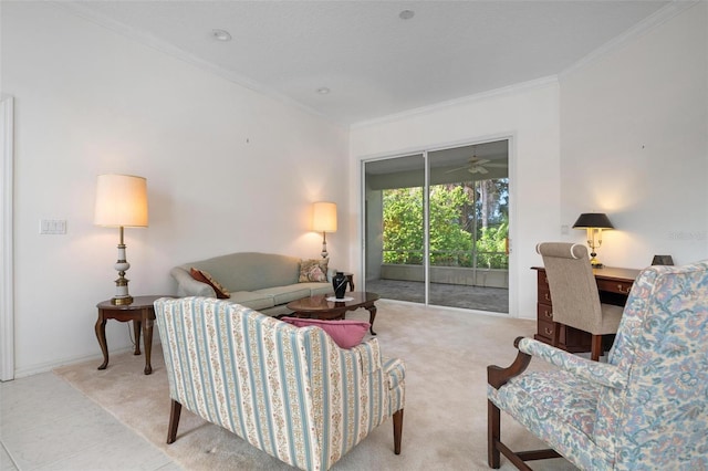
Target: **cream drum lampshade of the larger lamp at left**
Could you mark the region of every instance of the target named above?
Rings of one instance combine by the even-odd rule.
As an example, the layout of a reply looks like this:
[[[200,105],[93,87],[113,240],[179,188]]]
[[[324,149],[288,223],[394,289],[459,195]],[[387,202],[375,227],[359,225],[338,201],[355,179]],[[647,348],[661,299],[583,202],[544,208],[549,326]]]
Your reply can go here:
[[[147,227],[147,180],[132,175],[100,175],[94,224]]]

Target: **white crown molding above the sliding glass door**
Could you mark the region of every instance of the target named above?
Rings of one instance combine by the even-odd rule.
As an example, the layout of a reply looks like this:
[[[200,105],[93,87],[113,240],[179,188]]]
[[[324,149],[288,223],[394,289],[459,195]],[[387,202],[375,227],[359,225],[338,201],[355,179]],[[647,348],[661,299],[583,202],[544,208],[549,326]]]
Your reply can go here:
[[[549,75],[541,78],[535,78],[528,82],[521,82],[513,85],[503,86],[500,88],[490,90],[487,92],[477,93],[475,95],[467,95],[459,98],[449,100],[447,102],[439,102],[434,105],[421,106],[418,108],[407,109],[405,112],[395,113],[392,115],[382,116],[374,119],[367,119],[358,123],[354,123],[350,126],[351,129],[358,129],[368,126],[377,126],[385,123],[400,121],[418,115],[426,115],[450,108],[454,106],[468,105],[470,103],[480,102],[482,100],[489,100],[498,96],[512,95],[517,93],[527,92],[535,88],[543,88],[549,85],[558,85],[558,76]]]

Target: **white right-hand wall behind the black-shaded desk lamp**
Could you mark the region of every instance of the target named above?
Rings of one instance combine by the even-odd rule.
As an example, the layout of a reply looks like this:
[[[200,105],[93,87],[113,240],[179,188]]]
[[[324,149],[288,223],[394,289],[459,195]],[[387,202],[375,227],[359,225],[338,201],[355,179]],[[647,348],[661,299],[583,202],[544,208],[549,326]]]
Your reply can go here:
[[[606,212],[607,265],[708,258],[707,18],[699,2],[560,77],[562,221]]]

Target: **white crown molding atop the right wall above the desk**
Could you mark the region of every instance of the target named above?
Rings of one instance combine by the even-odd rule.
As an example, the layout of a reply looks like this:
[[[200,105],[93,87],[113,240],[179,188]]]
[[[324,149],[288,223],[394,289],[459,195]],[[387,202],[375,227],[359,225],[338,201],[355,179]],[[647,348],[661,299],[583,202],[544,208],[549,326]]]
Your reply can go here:
[[[629,43],[631,41],[634,41],[641,38],[642,35],[648,33],[649,31],[660,27],[662,24],[666,23],[670,19],[683,13],[689,8],[700,3],[701,1],[705,1],[705,0],[673,0],[666,7],[657,10],[656,12],[645,18],[634,27],[629,28],[627,31],[623,32],[622,34],[612,39],[611,41],[604,43],[603,45],[601,45],[590,54],[585,55],[580,61],[575,62],[568,69],[561,71],[558,74],[559,77],[562,78],[563,76],[572,72],[575,72],[577,70],[581,70],[586,65],[590,65],[595,61],[617,51],[618,49]]]

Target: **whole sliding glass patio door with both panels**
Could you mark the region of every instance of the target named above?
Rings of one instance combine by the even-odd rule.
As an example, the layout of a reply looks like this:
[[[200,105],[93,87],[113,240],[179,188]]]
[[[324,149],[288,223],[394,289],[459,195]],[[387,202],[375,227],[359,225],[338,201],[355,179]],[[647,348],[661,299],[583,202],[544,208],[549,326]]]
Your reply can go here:
[[[509,312],[509,140],[363,163],[365,289]]]

